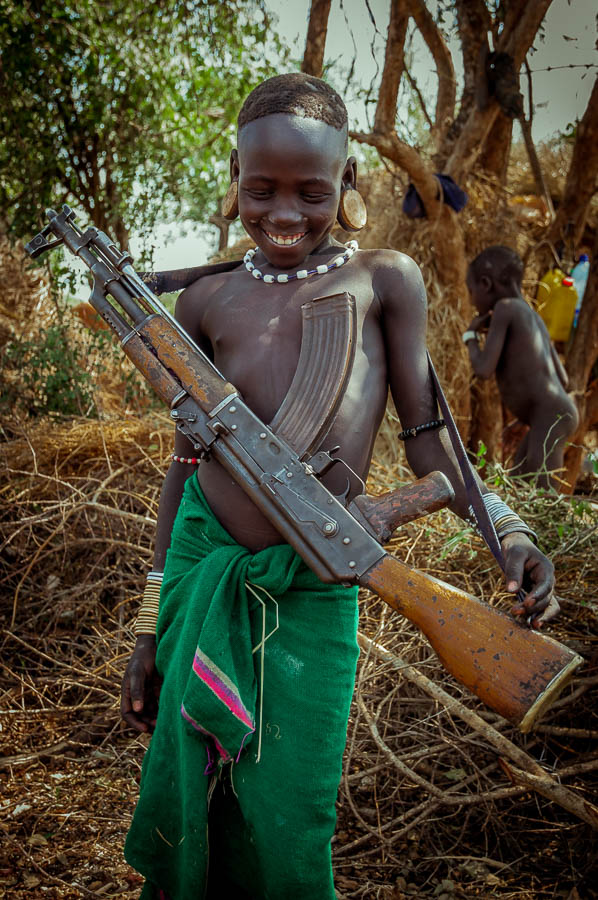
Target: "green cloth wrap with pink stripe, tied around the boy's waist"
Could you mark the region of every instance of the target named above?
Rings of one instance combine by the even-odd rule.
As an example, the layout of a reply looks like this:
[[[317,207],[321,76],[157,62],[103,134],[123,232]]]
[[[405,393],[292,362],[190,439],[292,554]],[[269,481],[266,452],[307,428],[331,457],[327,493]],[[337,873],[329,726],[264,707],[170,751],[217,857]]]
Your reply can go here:
[[[248,583],[265,598],[266,635],[276,605],[264,591],[278,604],[261,706],[261,649],[252,650],[263,607]],[[147,879],[144,898],[206,896],[209,858],[210,897],[238,888],[255,900],[334,900],[330,840],[356,632],[356,588],[323,584],[288,544],[252,555],[197,479],[187,481],[160,598],[158,720],[125,845]]]

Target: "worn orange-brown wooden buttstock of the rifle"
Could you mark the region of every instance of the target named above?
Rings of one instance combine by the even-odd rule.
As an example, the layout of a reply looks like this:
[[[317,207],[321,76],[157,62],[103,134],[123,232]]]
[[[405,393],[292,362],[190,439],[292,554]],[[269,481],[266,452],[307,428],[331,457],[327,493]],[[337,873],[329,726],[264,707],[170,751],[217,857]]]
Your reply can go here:
[[[457,681],[523,732],[583,662],[558,641],[393,556],[359,582],[417,625]]]

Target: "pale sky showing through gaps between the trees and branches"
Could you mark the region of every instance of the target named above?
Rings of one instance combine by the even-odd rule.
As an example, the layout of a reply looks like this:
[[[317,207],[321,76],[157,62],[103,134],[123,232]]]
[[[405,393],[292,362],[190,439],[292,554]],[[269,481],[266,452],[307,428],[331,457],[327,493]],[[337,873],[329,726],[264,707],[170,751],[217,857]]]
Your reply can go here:
[[[309,0],[266,0],[266,5],[279,18],[277,31],[292,47],[294,56],[300,58],[305,45]],[[435,0],[428,0],[428,5],[432,11],[435,10]],[[384,62],[384,40],[390,0],[369,0],[369,8],[375,26],[368,13],[366,0],[333,0],[326,41],[326,61],[334,60],[341,67],[348,67],[354,53],[357,52],[355,81],[361,81],[365,85],[375,78],[376,63],[381,71]],[[597,6],[593,0],[553,0],[550,6],[544,20],[544,40],[538,38],[535,50],[528,56],[530,67],[534,72],[533,134],[536,141],[564,130],[569,122],[574,122],[583,114],[598,69],[561,68],[550,72],[535,70],[544,70],[548,66],[598,63],[596,11]],[[354,40],[357,51],[354,48]],[[450,49],[457,78],[460,78],[458,40],[450,42]],[[411,74],[424,95],[431,98],[430,107],[433,109],[436,91],[435,68],[432,57],[421,39],[414,42],[413,56]],[[342,92],[340,84],[336,83],[335,86]],[[526,79],[522,79],[522,89],[524,96],[527,96]],[[345,96],[345,100],[348,101],[351,124],[364,127],[366,119],[363,104],[351,102],[348,96]],[[217,246],[215,228],[211,227],[206,231],[189,224],[188,229],[186,235],[182,235],[180,230],[172,225],[156,229],[152,241],[156,246],[154,256],[156,269],[196,265],[213,252]],[[134,253],[134,241],[132,250]]]

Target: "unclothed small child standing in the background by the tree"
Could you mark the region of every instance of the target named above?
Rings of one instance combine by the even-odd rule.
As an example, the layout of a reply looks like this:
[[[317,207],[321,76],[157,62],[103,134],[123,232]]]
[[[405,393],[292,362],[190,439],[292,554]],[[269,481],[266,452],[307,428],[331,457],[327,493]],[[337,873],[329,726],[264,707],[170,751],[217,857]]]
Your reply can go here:
[[[541,487],[558,487],[565,444],[578,424],[577,407],[546,326],[523,298],[522,277],[521,257],[509,247],[487,247],[476,256],[467,286],[478,315],[463,340],[478,378],[496,375],[504,405],[529,426],[512,473],[534,476]]]

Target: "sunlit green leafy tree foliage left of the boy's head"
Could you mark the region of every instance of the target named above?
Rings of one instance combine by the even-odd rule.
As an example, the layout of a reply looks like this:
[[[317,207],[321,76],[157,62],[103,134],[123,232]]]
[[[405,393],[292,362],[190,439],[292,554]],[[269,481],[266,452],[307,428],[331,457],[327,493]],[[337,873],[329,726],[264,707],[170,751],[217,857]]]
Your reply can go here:
[[[66,201],[126,243],[206,218],[240,102],[272,73],[268,25],[262,0],[0,0],[3,224],[30,234]]]

